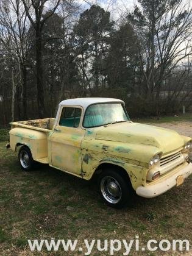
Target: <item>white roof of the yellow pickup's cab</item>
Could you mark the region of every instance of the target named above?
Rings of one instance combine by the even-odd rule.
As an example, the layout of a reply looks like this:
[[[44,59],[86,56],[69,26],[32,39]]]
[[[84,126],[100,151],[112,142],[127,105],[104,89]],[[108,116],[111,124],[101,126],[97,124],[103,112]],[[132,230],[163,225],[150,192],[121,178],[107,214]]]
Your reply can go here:
[[[117,102],[123,103],[121,99],[113,99],[113,98],[76,98],[76,99],[65,99],[64,101],[60,102],[59,105],[77,105],[81,106],[86,109],[89,105],[96,104],[96,103],[107,103],[107,102]]]

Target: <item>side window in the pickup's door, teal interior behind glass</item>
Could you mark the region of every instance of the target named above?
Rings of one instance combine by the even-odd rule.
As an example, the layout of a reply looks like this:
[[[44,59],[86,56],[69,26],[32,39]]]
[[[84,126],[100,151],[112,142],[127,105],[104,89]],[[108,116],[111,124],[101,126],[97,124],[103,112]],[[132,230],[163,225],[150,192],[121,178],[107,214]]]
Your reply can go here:
[[[66,127],[78,127],[80,122],[81,109],[74,107],[63,107],[59,125]]]

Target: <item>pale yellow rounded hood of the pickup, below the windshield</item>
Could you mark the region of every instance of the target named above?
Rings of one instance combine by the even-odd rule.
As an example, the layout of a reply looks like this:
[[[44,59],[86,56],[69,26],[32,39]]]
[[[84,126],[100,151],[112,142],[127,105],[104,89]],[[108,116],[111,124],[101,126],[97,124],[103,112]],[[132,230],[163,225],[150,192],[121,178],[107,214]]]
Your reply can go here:
[[[118,123],[102,127],[96,140],[117,141],[130,144],[155,146],[163,154],[183,147],[182,136],[174,130],[138,123]]]

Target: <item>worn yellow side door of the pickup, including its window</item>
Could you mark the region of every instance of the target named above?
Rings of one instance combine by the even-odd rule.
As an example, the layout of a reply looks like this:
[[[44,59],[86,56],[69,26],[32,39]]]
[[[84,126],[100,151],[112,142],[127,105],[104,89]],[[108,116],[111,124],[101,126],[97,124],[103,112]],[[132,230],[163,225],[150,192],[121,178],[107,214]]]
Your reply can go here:
[[[80,127],[82,108],[63,106],[51,136],[52,166],[81,175],[81,143],[85,130]]]

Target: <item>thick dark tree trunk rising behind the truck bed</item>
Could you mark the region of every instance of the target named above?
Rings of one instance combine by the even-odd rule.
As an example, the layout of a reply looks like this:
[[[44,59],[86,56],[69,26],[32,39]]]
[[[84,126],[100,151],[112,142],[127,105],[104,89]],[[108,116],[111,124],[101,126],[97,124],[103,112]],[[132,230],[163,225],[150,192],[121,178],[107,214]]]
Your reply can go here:
[[[44,117],[44,88],[43,88],[43,67],[42,67],[42,33],[41,29],[36,30],[36,75],[37,75],[37,105],[38,115]]]

